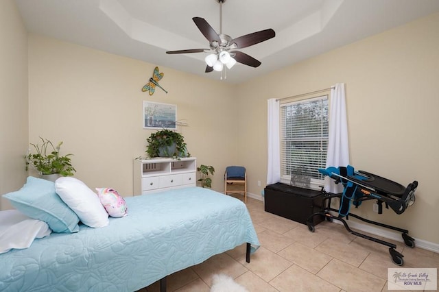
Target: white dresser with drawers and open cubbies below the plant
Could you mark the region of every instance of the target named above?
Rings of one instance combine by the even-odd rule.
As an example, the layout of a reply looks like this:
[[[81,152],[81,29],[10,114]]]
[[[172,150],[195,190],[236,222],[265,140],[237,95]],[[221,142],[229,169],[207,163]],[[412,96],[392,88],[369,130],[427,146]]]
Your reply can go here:
[[[197,185],[195,157],[134,159],[134,195]]]

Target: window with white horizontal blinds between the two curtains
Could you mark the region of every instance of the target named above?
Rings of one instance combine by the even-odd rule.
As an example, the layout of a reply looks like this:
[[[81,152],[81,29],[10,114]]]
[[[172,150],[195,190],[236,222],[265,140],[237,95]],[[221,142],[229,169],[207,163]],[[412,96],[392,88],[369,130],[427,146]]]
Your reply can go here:
[[[289,183],[303,174],[308,185],[322,185],[328,149],[328,96],[281,104],[281,178]],[[311,186],[309,186],[311,184]]]

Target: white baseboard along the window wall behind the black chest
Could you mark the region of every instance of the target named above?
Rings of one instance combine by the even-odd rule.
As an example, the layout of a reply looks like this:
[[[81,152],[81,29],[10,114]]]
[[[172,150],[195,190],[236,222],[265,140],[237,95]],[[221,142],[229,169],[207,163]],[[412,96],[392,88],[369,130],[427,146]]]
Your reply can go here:
[[[247,196],[251,197],[252,199],[258,199],[259,201],[263,201],[262,195],[256,195],[254,193],[247,193]],[[342,224],[342,222],[338,221],[338,220],[334,220],[333,222],[335,222],[337,224]],[[403,238],[401,236],[401,233],[398,233],[398,232],[384,230],[383,228],[377,228],[375,226],[370,226],[368,224],[356,222],[356,221],[352,221],[352,220],[348,220],[348,224],[349,224],[349,227],[355,228],[357,230],[361,230],[363,232],[368,232],[370,234],[373,234],[376,236],[381,236],[385,239],[392,239],[394,241],[398,241],[401,243],[404,242]],[[410,233],[409,233],[409,235],[412,236]],[[415,240],[416,247],[420,247],[420,248],[423,248],[424,250],[429,250],[431,252],[436,252],[439,254],[439,244],[438,243],[432,243],[430,241],[425,241],[423,239],[416,239],[416,238],[414,238],[414,240]]]

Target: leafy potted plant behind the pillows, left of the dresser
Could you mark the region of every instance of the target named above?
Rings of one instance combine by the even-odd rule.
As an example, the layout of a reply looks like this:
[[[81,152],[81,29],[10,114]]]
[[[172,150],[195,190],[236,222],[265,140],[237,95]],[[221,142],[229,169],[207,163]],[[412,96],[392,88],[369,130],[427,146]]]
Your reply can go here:
[[[31,167],[40,173],[40,176],[52,175],[55,177],[73,175],[76,169],[71,165],[73,154],[60,156],[62,141],[54,146],[51,141],[41,138],[41,145],[30,144],[36,151],[35,154],[28,153],[26,159],[26,171]],[[30,149],[29,149],[30,152]],[[52,178],[54,180],[56,178]]]

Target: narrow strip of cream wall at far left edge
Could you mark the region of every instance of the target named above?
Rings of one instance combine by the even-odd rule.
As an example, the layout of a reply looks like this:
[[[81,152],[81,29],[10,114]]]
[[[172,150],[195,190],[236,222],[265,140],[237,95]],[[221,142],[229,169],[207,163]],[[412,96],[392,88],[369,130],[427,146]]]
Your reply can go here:
[[[0,1],[0,195],[26,179],[27,32],[12,0]],[[0,199],[0,210],[11,208]]]

